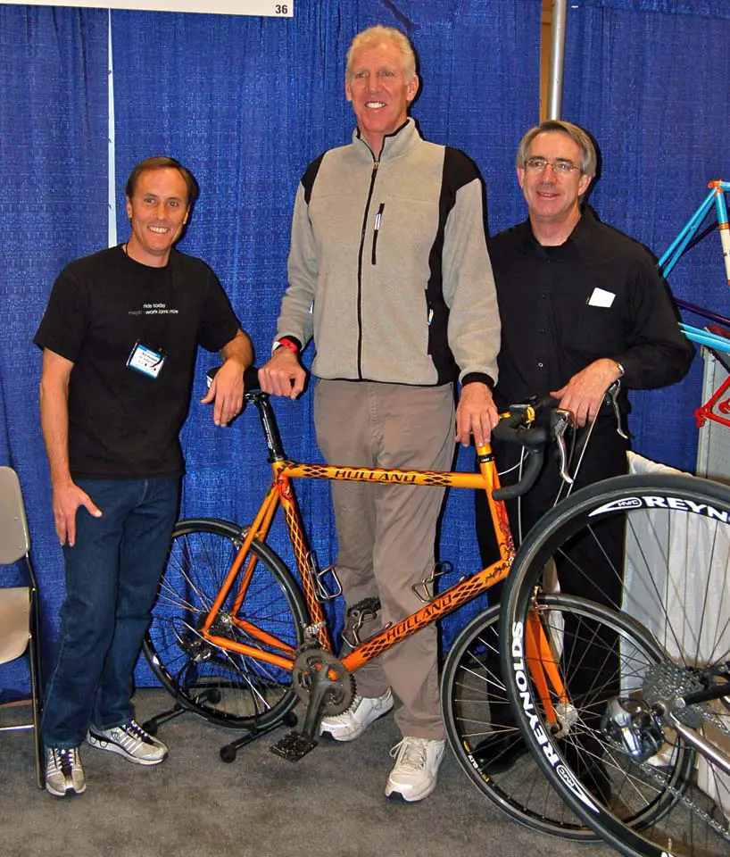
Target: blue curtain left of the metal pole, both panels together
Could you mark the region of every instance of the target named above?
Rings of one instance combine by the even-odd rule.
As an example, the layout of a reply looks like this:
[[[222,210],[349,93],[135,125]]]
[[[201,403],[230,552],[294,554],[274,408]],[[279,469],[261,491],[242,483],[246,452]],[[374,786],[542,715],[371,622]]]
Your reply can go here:
[[[58,271],[107,243],[108,21],[106,11],[0,5],[0,463],[19,470],[29,507],[46,652],[62,599],[62,557],[31,339]],[[512,160],[538,117],[539,0],[402,0],[397,8],[388,0],[299,0],[292,20],[112,12],[111,21],[120,241],[131,167],[151,154],[189,165],[202,197],[181,249],[219,273],[261,362],[286,287],[296,185],[307,163],[353,128],[344,55],[360,29],[384,23],[409,33],[423,79],[413,114],[425,136],[477,161],[493,230],[522,216]],[[201,358],[200,395],[212,362]],[[277,410],[290,456],[318,460],[311,394]],[[251,518],[269,478],[260,436],[253,413],[216,429],[194,398],[183,514]],[[464,469],[472,461],[461,454]],[[328,564],[335,557],[328,486],[302,483],[299,494]],[[441,553],[464,571],[477,567],[471,515],[469,492],[454,493]],[[281,530],[275,546],[290,559]],[[3,571],[6,579],[10,570]],[[7,676],[4,668],[2,686],[14,689]],[[138,678],[149,680],[144,668]],[[16,684],[23,689],[20,673]]]

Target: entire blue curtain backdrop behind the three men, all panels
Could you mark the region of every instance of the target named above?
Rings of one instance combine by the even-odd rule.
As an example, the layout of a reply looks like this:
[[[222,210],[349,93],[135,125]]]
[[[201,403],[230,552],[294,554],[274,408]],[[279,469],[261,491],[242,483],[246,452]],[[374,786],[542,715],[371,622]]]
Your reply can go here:
[[[592,202],[657,254],[705,183],[726,178],[728,18],[726,0],[576,0],[568,9],[564,115],[601,144],[603,179]],[[96,10],[0,5],[0,462],[21,474],[49,640],[62,562],[37,422],[40,358],[30,340],[56,273],[106,243],[107,21]],[[397,8],[387,0],[300,0],[290,21],[112,12],[118,186],[149,154],[192,167],[203,196],[182,249],[219,272],[261,360],[286,286],[294,189],[311,158],[349,137],[344,54],[355,32],[376,22],[413,38],[423,78],[413,113],[426,137],[477,161],[491,229],[521,220],[512,163],[538,115],[539,0],[402,0]],[[123,224],[121,187],[117,199]],[[680,262],[672,286],[727,314],[715,236]],[[201,379],[209,362],[201,361]],[[637,447],[688,469],[697,363],[683,386],[635,396]],[[316,459],[311,395],[278,403],[278,413],[290,455]],[[253,414],[217,430],[194,401],[184,440],[183,512],[250,519],[268,478]],[[470,468],[469,453],[460,453],[460,466]],[[302,485],[300,495],[317,522],[311,537],[321,562],[331,562],[327,486]],[[463,570],[477,562],[470,521],[469,493],[454,492],[441,554]],[[280,532],[277,546],[288,559]]]

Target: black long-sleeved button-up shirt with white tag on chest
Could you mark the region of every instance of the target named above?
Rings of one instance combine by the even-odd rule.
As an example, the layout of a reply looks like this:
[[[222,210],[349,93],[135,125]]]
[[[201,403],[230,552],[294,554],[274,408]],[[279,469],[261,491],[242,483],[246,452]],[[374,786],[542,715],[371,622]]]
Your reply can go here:
[[[651,255],[590,211],[560,246],[538,244],[526,220],[492,238],[489,255],[502,318],[500,409],[560,389],[601,357],[621,363],[624,387],[664,387],[689,370],[694,348]]]

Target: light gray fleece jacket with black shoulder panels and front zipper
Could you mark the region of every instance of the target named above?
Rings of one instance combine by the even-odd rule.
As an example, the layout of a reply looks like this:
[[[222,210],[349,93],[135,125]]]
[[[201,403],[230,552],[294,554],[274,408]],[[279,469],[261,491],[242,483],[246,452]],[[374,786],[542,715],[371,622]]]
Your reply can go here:
[[[496,382],[500,320],[476,166],[409,119],[380,160],[359,132],[311,162],[294,202],[277,338],[323,379]]]

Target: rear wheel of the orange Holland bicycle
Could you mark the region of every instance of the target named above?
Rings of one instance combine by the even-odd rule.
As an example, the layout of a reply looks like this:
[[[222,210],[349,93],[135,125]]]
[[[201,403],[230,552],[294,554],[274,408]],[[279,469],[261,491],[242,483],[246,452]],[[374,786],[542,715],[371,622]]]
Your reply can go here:
[[[221,649],[199,633],[242,541],[241,528],[227,521],[178,521],[143,651],[162,686],[184,708],[220,726],[258,729],[294,707],[291,673]],[[236,617],[294,649],[307,624],[303,597],[267,545],[254,541],[251,552],[258,562]],[[216,635],[276,651],[229,620],[233,598],[228,595],[221,606]]]

